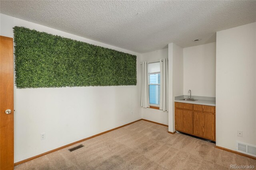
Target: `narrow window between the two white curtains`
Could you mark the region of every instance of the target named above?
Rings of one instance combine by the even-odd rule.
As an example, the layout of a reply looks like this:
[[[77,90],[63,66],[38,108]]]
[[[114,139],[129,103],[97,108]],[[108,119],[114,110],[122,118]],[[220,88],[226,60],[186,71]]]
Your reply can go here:
[[[148,64],[148,94],[150,106],[160,104],[160,63]]]

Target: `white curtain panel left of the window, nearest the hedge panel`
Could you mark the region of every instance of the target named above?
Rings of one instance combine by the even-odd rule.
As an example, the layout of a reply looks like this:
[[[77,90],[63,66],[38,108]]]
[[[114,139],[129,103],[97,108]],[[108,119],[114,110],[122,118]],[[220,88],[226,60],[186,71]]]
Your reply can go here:
[[[141,66],[141,107],[149,107],[148,97],[148,62],[142,62]]]

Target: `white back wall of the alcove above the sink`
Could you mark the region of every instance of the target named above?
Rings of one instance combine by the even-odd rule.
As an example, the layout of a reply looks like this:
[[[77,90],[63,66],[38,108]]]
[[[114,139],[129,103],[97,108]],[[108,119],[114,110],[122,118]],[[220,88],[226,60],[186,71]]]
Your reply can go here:
[[[183,49],[184,95],[215,97],[216,43]]]

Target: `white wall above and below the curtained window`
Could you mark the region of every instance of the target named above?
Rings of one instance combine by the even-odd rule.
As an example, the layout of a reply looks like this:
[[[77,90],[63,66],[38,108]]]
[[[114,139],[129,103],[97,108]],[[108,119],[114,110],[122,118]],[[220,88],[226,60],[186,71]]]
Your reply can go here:
[[[152,62],[152,61],[160,61],[160,59],[167,59],[167,58],[168,58],[168,48],[152,51],[149,53],[143,53],[141,55],[140,60]],[[140,78],[138,78],[138,80],[140,81]],[[141,96],[141,93],[139,94],[140,94],[139,96]],[[141,113],[142,113],[142,119],[147,119],[147,120],[168,125],[167,111],[141,107]]]

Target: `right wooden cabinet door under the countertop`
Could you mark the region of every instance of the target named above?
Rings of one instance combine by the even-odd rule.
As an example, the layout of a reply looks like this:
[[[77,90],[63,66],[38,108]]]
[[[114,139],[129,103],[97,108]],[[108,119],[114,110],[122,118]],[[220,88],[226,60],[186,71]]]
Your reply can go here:
[[[214,113],[193,112],[193,135],[215,141]]]

